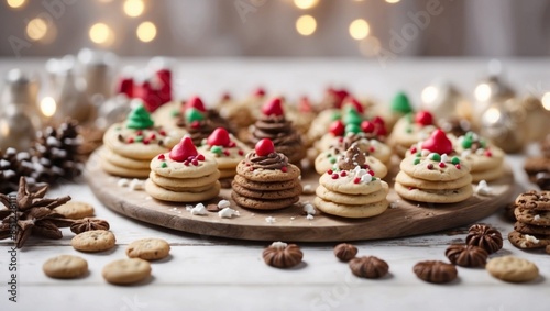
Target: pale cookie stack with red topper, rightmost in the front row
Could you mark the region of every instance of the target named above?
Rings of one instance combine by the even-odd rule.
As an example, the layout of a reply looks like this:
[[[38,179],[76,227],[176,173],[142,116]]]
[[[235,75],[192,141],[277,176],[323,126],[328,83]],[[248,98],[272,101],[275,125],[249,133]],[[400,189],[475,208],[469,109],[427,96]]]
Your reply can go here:
[[[405,157],[395,178],[395,191],[404,199],[429,203],[454,203],[472,193],[470,165],[453,154],[451,141],[436,130],[421,149]]]

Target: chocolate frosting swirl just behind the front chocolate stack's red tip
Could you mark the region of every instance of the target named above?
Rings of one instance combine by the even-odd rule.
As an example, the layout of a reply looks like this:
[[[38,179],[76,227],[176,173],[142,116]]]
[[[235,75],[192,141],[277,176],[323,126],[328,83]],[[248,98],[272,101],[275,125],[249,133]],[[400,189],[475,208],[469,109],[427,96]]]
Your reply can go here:
[[[250,141],[255,144],[263,138],[272,140],[275,147],[301,144],[299,134],[284,115],[264,115],[256,121]]]

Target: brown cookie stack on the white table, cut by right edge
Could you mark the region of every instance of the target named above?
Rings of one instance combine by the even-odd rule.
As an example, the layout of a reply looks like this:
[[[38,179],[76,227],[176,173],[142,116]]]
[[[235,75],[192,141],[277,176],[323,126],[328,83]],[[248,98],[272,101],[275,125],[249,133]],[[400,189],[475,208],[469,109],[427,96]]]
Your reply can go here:
[[[550,191],[528,191],[515,201],[516,223],[508,241],[521,249],[550,245]]]

